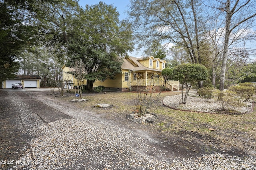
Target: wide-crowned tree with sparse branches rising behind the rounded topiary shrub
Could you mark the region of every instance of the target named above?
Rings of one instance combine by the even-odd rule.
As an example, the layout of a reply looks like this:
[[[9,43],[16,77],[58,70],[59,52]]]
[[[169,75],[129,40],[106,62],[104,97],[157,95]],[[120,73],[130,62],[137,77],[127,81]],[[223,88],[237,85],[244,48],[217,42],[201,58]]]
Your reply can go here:
[[[201,63],[199,49],[205,22],[198,1],[131,0],[130,7],[136,37],[143,41],[138,47],[175,43],[192,63]]]

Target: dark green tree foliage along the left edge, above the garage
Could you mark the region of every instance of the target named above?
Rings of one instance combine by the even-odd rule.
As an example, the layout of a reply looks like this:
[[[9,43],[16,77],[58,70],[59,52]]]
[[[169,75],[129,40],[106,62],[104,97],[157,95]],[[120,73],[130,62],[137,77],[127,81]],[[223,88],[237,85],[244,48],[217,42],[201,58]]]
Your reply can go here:
[[[38,34],[36,27],[29,24],[35,17],[33,4],[54,0],[1,0],[0,1],[0,84],[7,78],[14,78],[19,63],[16,56],[28,44],[34,43]]]

